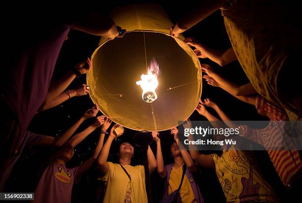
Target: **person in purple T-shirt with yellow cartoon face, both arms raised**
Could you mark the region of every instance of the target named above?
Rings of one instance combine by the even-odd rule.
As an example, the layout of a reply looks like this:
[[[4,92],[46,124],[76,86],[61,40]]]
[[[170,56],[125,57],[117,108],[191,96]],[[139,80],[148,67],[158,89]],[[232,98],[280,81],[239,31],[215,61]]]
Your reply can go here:
[[[69,139],[62,147],[54,150],[45,162],[38,186],[35,190],[34,203],[70,203],[74,181],[90,168],[97,159],[105,137],[105,132],[109,128],[111,121],[105,116],[99,116],[95,122],[84,131]],[[102,126],[103,125],[103,126]],[[74,147],[79,144],[87,135],[98,127],[102,126],[98,144],[93,155],[82,165],[69,169],[66,163],[74,156]],[[43,169],[43,166],[41,166]]]

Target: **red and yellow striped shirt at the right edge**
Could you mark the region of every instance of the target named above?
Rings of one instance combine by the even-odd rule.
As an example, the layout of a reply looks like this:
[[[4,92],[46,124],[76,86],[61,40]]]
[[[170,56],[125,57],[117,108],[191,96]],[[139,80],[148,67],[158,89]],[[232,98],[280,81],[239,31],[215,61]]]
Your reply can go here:
[[[302,161],[297,150],[272,150],[276,147],[290,148],[291,143],[283,136],[286,128],[288,117],[286,113],[267,102],[263,97],[256,97],[256,108],[264,110],[272,114],[272,119],[269,125],[264,129],[251,129],[248,126],[241,126],[243,136],[263,145],[268,152],[270,160],[272,161],[278,175],[280,176],[284,185],[289,185],[291,178],[302,169]]]

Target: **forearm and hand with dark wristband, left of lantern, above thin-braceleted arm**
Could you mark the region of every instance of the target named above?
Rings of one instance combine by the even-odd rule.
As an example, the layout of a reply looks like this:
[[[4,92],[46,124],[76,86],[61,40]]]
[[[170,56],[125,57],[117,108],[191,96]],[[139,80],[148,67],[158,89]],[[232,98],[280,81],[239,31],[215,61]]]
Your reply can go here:
[[[92,67],[92,62],[89,58],[86,61],[76,64],[75,68],[80,72],[80,74],[85,74],[88,72],[89,68]],[[55,98],[57,98],[61,93],[63,93],[70,83],[76,78],[76,73],[69,70],[65,75],[57,80],[51,82],[48,89],[46,99],[42,105],[47,105]]]

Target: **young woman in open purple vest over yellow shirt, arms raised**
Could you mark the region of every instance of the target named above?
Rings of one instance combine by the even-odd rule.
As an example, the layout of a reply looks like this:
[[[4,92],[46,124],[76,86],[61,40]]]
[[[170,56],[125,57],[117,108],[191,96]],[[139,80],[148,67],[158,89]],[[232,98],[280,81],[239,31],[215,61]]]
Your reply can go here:
[[[187,150],[180,150],[178,140],[178,129],[176,127],[171,129],[171,134],[174,135],[175,142],[170,147],[174,163],[165,165],[163,162],[161,145],[159,134],[152,132],[152,136],[157,145],[156,150],[156,161],[157,161],[157,172],[161,177],[166,177],[166,183],[164,188],[164,197],[167,197],[175,190],[178,189],[182,174],[183,166],[186,164],[187,170],[186,175],[180,189],[180,195],[182,202],[184,203],[203,203],[202,195],[199,191],[198,185],[196,184],[192,172],[197,172],[198,169],[193,163],[191,156]]]

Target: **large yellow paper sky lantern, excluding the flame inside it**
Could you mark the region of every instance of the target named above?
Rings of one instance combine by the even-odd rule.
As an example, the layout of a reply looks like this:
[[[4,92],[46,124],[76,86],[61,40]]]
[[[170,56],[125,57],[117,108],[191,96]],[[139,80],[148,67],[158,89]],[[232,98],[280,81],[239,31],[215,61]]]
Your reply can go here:
[[[163,8],[124,6],[113,10],[111,17],[127,33],[113,40],[101,38],[92,55],[87,84],[93,102],[113,122],[133,130],[163,131],[185,121],[201,96],[200,63],[182,36],[170,35],[173,24]],[[150,69],[154,61],[159,74]],[[157,99],[144,101],[137,81],[148,70],[158,80],[152,90]]]

